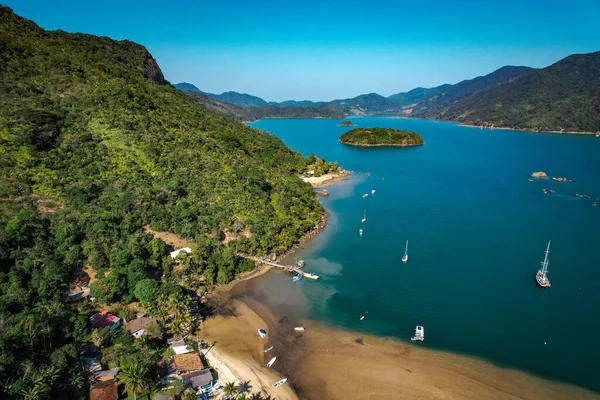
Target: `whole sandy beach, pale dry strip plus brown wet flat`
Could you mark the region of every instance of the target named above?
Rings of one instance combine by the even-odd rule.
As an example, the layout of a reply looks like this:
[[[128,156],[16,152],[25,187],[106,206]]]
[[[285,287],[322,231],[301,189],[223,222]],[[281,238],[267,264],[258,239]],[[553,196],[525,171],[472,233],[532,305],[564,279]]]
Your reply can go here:
[[[290,388],[297,398],[312,400],[600,399],[597,393],[477,358],[302,321],[282,316],[282,310],[275,311],[277,316],[248,292],[249,284],[241,282],[213,299],[227,306],[203,325],[202,336],[217,341],[248,374],[257,375],[259,385],[288,377],[289,387],[283,390],[267,387],[278,399],[296,398]],[[305,331],[295,331],[295,326]],[[267,341],[258,338],[260,327],[268,330]],[[263,349],[269,346],[274,349],[265,356]],[[275,356],[273,370],[279,375],[261,375],[272,373],[262,366]]]

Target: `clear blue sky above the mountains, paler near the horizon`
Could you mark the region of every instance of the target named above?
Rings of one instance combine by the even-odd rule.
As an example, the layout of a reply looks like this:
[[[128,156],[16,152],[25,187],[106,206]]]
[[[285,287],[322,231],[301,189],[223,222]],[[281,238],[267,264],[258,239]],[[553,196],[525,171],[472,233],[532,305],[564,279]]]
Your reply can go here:
[[[600,1],[0,0],[145,45],[172,83],[267,101],[388,96],[600,50]]]

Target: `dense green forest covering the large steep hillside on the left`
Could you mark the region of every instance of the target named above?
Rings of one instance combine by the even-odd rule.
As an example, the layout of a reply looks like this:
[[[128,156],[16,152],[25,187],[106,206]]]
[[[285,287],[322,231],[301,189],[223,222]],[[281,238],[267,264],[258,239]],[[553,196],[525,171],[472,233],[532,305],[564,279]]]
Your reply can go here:
[[[0,393],[80,398],[90,341],[123,379],[155,381],[164,332],[92,334],[96,310],[67,301],[69,282],[89,266],[97,301],[128,316],[139,300],[180,332],[159,310],[177,318],[182,286],[226,283],[253,268],[238,254],[281,253],[320,221],[298,176],[313,162],[170,86],[143,46],[0,7]],[[174,270],[146,225],[187,238],[192,258]]]

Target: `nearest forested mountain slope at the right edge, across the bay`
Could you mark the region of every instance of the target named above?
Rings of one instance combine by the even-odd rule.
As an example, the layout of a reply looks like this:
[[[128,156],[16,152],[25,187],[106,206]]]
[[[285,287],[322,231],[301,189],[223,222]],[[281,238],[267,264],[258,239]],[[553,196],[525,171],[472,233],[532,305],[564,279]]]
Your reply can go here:
[[[600,52],[569,56],[420,116],[528,130],[600,131]]]

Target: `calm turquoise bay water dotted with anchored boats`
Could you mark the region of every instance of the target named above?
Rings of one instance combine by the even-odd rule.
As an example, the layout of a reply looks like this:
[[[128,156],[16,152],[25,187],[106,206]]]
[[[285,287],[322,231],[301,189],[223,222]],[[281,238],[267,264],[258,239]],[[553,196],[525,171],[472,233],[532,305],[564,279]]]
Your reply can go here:
[[[289,275],[267,274],[257,283],[263,300],[404,340],[421,324],[426,341],[419,346],[600,391],[600,205],[574,196],[600,197],[600,139],[412,119],[352,121],[414,130],[426,144],[346,146],[337,139],[351,128],[339,120],[251,124],[354,172],[329,188],[322,199],[328,227],[300,253],[321,279],[292,283]],[[573,182],[528,182],[534,171]],[[371,189],[376,194],[363,199]],[[550,239],[552,287],[544,290],[535,273]],[[402,264],[406,240],[409,261]]]

